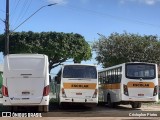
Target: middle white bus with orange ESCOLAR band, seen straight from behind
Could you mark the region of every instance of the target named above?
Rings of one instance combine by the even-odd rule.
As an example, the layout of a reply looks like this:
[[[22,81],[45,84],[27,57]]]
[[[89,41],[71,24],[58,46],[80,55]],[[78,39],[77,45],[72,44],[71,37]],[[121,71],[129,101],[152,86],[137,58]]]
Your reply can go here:
[[[57,91],[59,104],[97,105],[97,74],[98,71],[95,65],[63,65],[58,76],[55,77],[57,84],[59,84],[59,91]]]

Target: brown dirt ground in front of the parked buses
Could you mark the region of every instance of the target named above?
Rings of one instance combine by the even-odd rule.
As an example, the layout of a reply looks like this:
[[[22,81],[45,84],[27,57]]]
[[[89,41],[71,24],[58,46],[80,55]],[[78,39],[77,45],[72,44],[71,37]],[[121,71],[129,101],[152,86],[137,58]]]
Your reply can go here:
[[[160,105],[145,104],[140,109],[132,109],[130,105],[121,105],[118,108],[97,106],[92,109],[51,109],[42,113],[38,118],[0,118],[0,120],[160,120]],[[143,114],[151,116],[141,116]],[[155,116],[157,115],[157,116]],[[45,117],[44,117],[45,116]],[[54,116],[54,117],[50,117]],[[92,117],[94,116],[94,117]],[[108,116],[108,117],[106,117]],[[120,117],[118,117],[120,116]]]

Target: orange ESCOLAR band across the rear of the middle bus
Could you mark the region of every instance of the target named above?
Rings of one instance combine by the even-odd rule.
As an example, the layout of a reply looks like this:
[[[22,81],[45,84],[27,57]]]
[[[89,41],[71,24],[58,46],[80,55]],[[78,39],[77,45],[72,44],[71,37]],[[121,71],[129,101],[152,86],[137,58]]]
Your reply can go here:
[[[64,89],[96,89],[96,83],[63,83]]]

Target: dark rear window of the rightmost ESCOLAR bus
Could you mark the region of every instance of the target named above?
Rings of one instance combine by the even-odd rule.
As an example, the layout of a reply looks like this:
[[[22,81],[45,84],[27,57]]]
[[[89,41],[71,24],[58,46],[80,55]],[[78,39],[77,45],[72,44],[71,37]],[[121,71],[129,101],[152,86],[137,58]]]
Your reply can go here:
[[[126,77],[131,79],[153,79],[156,77],[155,65],[126,64]]]

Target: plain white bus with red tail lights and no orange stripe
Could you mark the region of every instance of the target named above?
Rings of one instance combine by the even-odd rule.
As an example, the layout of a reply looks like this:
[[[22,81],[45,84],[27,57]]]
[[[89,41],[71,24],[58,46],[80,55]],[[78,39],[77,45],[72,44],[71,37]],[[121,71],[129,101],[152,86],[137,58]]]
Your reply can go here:
[[[3,105],[37,106],[48,111],[49,69],[48,57],[43,54],[9,54],[4,58],[2,86]]]

